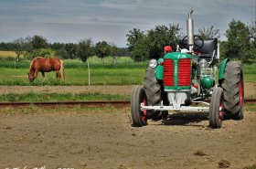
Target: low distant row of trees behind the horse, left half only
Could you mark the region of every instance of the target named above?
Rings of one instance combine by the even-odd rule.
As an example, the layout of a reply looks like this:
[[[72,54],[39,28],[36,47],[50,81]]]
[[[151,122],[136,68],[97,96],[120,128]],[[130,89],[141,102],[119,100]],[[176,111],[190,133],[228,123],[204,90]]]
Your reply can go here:
[[[130,56],[128,48],[117,48],[106,41],[101,41],[95,45],[91,38],[85,38],[79,43],[48,43],[46,37],[35,35],[33,37],[19,37],[13,42],[1,42],[0,50],[15,51],[16,58],[51,57],[56,56],[64,59],[79,58],[82,62],[86,62],[87,58],[97,56],[104,61],[106,57],[116,58],[122,56]]]

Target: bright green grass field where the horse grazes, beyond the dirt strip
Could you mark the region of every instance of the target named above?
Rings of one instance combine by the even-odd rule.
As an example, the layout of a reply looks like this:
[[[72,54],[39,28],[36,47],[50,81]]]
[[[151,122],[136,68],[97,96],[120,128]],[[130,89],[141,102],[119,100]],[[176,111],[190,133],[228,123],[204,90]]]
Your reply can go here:
[[[119,58],[118,63],[112,63],[112,58],[106,58],[105,63],[99,58],[90,58],[91,85],[141,85],[147,63],[134,63],[131,58]],[[27,79],[29,61],[0,62],[0,85],[89,85],[88,62],[65,60],[65,82],[55,78],[55,72],[46,73],[46,79],[38,73],[35,82]],[[243,65],[244,81],[256,82],[256,65]]]

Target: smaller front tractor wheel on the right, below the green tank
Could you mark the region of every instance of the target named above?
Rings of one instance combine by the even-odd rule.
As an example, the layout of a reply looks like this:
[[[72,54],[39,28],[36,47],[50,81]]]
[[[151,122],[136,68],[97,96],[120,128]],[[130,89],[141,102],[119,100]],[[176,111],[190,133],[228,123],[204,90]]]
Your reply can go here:
[[[221,127],[224,111],[224,95],[222,88],[214,88],[209,105],[209,126],[213,129]]]

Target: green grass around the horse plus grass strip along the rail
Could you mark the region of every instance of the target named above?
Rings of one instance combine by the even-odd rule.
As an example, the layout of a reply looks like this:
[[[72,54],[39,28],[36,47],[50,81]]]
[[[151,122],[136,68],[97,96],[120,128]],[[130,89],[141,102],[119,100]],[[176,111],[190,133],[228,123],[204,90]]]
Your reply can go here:
[[[0,53],[1,58],[1,53]],[[11,57],[12,58],[12,57]],[[0,59],[0,85],[6,86],[88,86],[90,66],[90,85],[142,85],[147,62],[134,63],[132,58],[118,58],[113,63],[113,58],[92,57],[86,63],[80,60],[64,60],[65,82],[55,78],[55,72],[46,73],[46,79],[42,79],[38,73],[37,79],[30,83],[27,78],[29,60]],[[244,80],[256,82],[256,65],[243,65]],[[61,94],[61,93],[27,93],[5,94],[0,96],[0,101],[66,101],[66,100],[130,100],[127,95],[110,95],[101,93],[91,94]]]

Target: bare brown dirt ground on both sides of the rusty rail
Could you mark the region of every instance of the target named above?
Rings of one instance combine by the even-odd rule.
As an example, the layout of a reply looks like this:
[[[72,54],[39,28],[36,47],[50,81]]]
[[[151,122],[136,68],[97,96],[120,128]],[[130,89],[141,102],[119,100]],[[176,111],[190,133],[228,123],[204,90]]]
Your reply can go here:
[[[127,89],[132,87],[105,87],[104,92],[130,94]],[[10,92],[24,91],[14,88]],[[34,88],[52,91],[29,90]],[[84,92],[88,87],[78,88]],[[67,89],[75,91],[62,87],[58,92]],[[7,90],[1,87],[0,93]],[[241,169],[256,164],[255,111],[212,130],[205,113],[172,114],[165,121],[133,128],[129,107],[47,113],[40,109],[28,114],[18,113],[20,108],[12,114],[0,110],[0,168],[216,169],[227,164]]]

